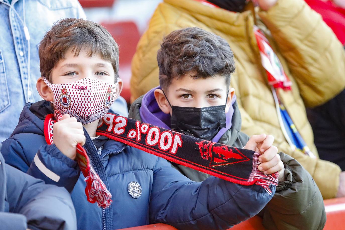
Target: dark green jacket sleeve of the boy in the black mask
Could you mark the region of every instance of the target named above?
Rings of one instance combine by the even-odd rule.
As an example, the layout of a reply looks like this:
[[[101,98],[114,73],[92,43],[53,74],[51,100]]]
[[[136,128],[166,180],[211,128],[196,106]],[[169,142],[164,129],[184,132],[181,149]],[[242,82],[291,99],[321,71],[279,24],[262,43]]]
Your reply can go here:
[[[311,175],[292,157],[279,153],[286,180],[259,213],[266,229],[323,229],[326,212],[322,195]]]

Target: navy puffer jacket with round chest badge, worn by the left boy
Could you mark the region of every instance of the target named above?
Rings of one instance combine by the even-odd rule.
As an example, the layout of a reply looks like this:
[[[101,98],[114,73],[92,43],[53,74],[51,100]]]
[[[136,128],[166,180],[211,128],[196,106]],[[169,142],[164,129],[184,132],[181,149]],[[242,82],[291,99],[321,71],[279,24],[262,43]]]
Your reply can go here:
[[[275,192],[273,186],[273,194],[268,194],[257,185],[242,186],[216,177],[193,182],[165,159],[114,140],[105,140],[99,154],[85,131],[84,148],[112,194],[112,205],[98,208],[86,199],[85,178],[77,163],[54,144],[46,144],[43,118],[37,114],[47,108],[49,104],[44,101],[27,103],[17,128],[2,143],[1,152],[8,164],[69,190],[78,229],[118,229],[158,222],[179,229],[227,229],[256,215]],[[132,181],[140,184],[138,198],[129,194]]]

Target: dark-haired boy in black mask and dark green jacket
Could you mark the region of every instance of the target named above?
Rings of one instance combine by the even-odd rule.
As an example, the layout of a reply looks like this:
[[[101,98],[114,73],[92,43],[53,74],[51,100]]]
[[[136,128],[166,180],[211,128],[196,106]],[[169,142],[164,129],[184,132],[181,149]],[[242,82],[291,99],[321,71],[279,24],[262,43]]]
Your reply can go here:
[[[234,89],[230,88],[235,63],[228,43],[199,28],[176,30],[164,38],[157,61],[160,86],[138,98],[130,108],[129,117],[261,153],[259,170],[280,174],[275,196],[259,213],[264,226],[322,229],[326,220],[323,200],[310,174],[292,157],[276,154],[273,136],[249,138],[240,132],[241,116]],[[209,177],[171,164],[191,180],[203,181]]]

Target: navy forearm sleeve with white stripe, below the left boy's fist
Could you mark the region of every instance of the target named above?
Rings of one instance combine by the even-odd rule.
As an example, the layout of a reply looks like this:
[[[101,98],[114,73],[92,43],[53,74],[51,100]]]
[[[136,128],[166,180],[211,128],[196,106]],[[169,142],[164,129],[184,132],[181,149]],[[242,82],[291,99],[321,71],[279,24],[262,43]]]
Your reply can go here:
[[[55,144],[45,144],[38,150],[27,172],[29,175],[65,187],[72,192],[80,175],[76,161],[66,157]]]

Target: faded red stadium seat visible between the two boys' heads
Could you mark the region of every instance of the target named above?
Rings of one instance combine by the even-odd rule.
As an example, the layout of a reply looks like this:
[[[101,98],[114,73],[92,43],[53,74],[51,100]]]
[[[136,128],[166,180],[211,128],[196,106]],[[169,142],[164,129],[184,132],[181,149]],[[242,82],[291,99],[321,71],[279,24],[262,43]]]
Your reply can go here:
[[[137,25],[132,21],[102,22],[101,25],[109,31],[120,46],[119,76],[124,82],[121,96],[129,103],[131,61],[140,38]]]

